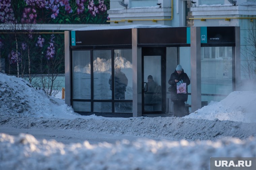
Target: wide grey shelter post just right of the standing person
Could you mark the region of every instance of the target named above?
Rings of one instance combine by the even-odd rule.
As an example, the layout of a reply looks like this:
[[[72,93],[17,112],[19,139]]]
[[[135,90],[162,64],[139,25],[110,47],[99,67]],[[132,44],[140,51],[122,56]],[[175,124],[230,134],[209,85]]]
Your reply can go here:
[[[201,108],[201,31],[190,28],[191,54],[191,112]]]

